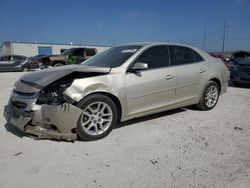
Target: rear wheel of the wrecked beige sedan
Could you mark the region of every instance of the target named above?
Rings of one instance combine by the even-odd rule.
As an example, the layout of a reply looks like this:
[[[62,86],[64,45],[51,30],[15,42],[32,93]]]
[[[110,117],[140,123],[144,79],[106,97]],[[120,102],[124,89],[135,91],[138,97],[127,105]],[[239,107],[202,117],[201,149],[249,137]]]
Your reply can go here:
[[[206,85],[199,103],[196,105],[201,110],[213,109],[219,100],[219,86],[214,81],[209,81]]]

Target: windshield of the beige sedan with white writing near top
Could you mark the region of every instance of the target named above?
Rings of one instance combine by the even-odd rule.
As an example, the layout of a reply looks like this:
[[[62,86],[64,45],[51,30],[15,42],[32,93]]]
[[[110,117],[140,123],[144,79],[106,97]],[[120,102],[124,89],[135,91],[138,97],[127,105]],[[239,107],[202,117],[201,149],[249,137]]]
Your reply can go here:
[[[119,67],[142,46],[118,46],[110,48],[83,62],[83,65],[95,67]]]

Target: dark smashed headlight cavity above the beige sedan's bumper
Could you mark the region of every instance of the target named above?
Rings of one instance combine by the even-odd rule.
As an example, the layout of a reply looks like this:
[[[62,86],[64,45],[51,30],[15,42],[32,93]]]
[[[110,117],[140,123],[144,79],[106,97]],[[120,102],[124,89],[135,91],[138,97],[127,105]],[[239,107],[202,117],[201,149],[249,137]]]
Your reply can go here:
[[[73,80],[60,81],[50,84],[40,91],[37,104],[60,105],[66,100],[63,92],[72,84]]]

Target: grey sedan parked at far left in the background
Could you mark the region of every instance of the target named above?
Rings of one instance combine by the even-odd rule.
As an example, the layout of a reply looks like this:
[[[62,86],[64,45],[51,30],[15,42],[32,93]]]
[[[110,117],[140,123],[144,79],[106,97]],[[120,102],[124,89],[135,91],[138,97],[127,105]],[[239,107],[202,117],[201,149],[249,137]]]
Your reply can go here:
[[[27,59],[21,55],[6,55],[0,57],[0,71],[23,71],[24,61]]]

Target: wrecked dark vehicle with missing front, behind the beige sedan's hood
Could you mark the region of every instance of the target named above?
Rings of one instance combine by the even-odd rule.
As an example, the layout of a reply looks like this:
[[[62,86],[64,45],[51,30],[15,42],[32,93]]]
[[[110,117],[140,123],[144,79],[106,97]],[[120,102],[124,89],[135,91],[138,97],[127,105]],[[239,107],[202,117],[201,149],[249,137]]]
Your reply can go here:
[[[95,48],[71,48],[60,55],[51,55],[42,58],[42,68],[57,67],[67,64],[79,64],[97,54]]]

